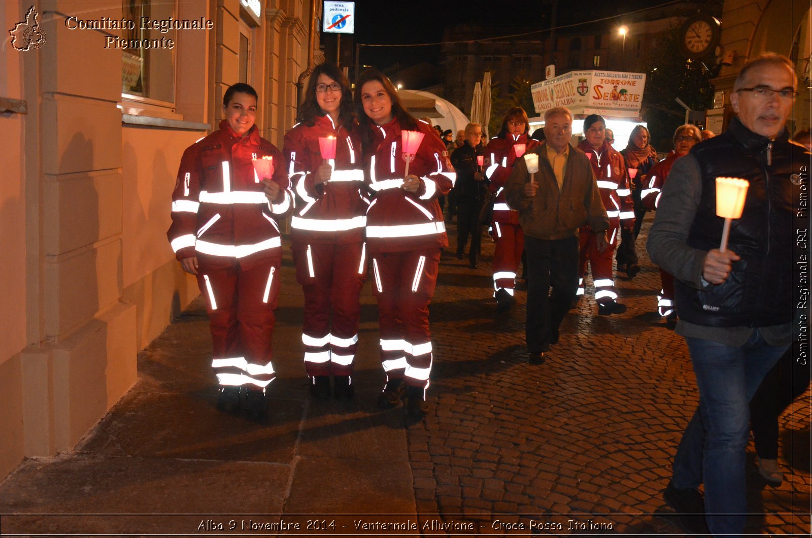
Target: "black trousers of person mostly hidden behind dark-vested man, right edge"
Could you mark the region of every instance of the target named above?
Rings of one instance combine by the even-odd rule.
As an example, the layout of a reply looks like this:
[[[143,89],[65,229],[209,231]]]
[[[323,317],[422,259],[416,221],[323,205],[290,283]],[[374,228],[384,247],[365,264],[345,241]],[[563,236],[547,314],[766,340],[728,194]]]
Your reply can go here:
[[[801,358],[800,347],[799,339],[781,355],[750,400],[750,427],[758,458],[778,458],[778,415],[810,385],[810,362]]]

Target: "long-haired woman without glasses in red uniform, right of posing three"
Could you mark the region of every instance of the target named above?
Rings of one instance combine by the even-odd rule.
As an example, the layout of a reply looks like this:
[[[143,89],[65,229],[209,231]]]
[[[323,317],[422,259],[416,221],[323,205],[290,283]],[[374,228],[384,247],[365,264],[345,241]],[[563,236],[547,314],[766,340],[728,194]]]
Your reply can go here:
[[[387,384],[378,405],[394,407],[408,393],[408,411],[428,409],[425,389],[432,362],[429,302],[434,295],[440,251],[448,245],[437,197],[451,189],[446,148],[405,110],[395,87],[381,72],[364,72],[356,82],[369,187],[366,237],[378,297],[381,362]],[[402,131],[424,133],[405,174]]]

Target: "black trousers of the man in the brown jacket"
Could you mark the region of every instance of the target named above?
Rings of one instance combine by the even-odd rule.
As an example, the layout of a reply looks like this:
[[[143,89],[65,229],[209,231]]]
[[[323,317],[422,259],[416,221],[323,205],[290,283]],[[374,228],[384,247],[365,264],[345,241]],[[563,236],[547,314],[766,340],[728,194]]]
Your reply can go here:
[[[525,236],[525,252],[528,280],[525,337],[527,349],[536,354],[550,349],[550,337],[558,332],[575,299],[578,236],[552,240]]]

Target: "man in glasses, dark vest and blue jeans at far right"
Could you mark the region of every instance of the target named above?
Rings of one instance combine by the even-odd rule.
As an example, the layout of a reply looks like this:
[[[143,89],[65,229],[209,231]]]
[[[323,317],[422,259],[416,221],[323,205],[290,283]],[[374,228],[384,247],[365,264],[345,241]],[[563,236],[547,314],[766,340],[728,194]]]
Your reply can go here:
[[[678,513],[700,514],[682,516],[693,531],[704,523],[714,535],[744,530],[748,401],[792,341],[793,206],[810,163],[785,128],[796,85],[793,64],[779,54],[742,68],[730,96],[738,117],[674,164],[649,234],[651,260],[676,279],[676,331],[699,388],[664,493]],[[718,176],[749,181],[724,251]]]

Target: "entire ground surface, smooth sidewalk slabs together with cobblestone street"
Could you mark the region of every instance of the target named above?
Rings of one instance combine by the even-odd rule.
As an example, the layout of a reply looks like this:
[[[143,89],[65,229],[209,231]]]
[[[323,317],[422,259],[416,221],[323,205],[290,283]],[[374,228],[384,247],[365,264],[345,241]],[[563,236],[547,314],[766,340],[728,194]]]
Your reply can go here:
[[[354,401],[310,400],[286,249],[266,421],[215,410],[198,300],[140,354],[138,384],[73,453],[28,460],[0,484],[2,533],[685,536],[661,492],[697,394],[684,341],[653,313],[656,267],[644,257],[634,280],[616,279],[624,315],[582,299],[531,366],[525,291],[495,313],[493,244],[482,244],[476,271],[441,261],[423,422],[375,406],[384,376],[369,285]],[[779,488],[749,447],[747,531],[808,535],[809,392],[780,424]]]

